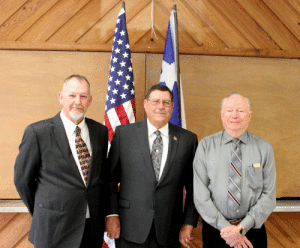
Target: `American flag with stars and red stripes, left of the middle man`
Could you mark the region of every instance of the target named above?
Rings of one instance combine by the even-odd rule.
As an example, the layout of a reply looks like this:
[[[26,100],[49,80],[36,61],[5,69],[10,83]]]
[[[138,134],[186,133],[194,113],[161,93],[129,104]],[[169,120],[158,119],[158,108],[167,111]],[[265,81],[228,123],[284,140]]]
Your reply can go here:
[[[135,122],[135,90],[125,10],[119,12],[112,48],[104,121],[109,144],[118,125]]]

